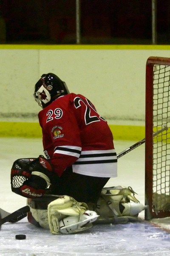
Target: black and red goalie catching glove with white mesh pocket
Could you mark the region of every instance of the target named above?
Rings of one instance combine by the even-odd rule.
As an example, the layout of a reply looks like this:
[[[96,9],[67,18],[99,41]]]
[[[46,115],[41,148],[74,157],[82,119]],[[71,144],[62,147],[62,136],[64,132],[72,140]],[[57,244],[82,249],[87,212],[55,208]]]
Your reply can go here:
[[[51,163],[42,155],[17,159],[11,168],[11,190],[26,198],[39,198],[45,194],[54,177]]]

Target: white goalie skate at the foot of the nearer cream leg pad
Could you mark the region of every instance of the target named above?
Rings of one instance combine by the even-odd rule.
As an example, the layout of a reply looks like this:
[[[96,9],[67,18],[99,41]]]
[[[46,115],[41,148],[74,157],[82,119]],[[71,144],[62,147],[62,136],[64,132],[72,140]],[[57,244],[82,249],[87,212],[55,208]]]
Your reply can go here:
[[[96,212],[87,210],[82,215],[68,216],[59,221],[59,231],[63,234],[77,233],[92,227],[99,217]]]

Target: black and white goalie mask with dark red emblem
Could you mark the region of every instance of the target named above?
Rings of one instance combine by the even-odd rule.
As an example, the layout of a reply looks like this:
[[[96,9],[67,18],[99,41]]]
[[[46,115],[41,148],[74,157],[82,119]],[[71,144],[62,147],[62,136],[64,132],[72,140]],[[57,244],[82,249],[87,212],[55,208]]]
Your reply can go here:
[[[53,73],[43,74],[35,84],[34,98],[41,108],[45,108],[59,96],[70,93],[64,81]]]

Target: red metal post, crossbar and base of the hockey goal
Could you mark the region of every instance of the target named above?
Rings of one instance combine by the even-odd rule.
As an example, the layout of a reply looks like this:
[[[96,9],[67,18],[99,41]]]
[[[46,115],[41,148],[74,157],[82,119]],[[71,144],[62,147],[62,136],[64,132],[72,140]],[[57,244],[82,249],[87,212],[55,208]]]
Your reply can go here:
[[[153,69],[154,65],[170,66],[170,58],[149,57],[146,62],[145,88],[145,209],[144,218],[170,217],[170,212],[153,212]]]

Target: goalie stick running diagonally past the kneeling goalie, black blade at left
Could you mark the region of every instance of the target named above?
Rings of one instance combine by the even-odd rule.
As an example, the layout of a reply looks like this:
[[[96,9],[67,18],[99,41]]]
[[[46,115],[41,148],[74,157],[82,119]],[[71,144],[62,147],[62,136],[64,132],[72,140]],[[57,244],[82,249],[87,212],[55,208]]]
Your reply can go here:
[[[153,133],[153,137],[155,137],[156,135],[162,133],[163,131],[167,131],[167,130],[168,130],[167,125],[164,125],[164,128],[162,128],[159,131],[156,131],[156,132]],[[117,154],[117,159],[124,156],[125,154],[132,151],[133,149],[139,147],[143,143],[145,143],[145,138],[143,140],[140,140],[139,142],[133,144],[129,148],[126,148],[125,150],[123,150],[119,154]],[[43,197],[45,197],[45,195]],[[40,200],[40,198],[37,198],[37,199]],[[0,208],[0,215],[3,216],[3,218],[0,217],[0,227],[1,227],[2,224],[6,223],[6,222],[15,223],[17,221],[20,221],[21,219],[26,217],[27,212],[29,212],[29,211],[30,211],[30,208],[28,207],[28,205],[18,209],[17,211],[15,211],[13,213],[6,212],[6,211],[4,211],[3,209]]]

